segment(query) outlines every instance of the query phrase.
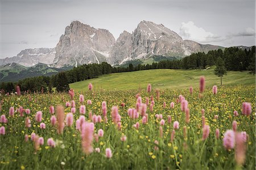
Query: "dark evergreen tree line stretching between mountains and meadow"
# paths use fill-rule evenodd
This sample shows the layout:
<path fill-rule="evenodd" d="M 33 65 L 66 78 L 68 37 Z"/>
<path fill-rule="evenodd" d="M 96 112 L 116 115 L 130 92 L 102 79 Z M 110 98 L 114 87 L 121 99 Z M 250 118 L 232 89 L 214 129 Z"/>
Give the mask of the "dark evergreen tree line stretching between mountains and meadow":
<path fill-rule="evenodd" d="M 106 62 L 81 65 L 52 76 L 36 76 L 18 82 L 2 82 L 0 89 L 11 93 L 18 85 L 23 92 L 52 92 L 53 87 L 56 87 L 56 91 L 68 91 L 70 83 L 97 78 L 104 74 L 149 69 L 206 69 L 220 62 L 224 64 L 222 67 L 228 71 L 249 70 L 250 73 L 255 74 L 255 46 L 250 50 L 235 47 L 225 50 L 210 50 L 207 54 L 204 52 L 193 53 L 182 59 L 162 60 L 147 65 L 134 66 L 130 63 L 128 67 L 112 67 Z"/>

